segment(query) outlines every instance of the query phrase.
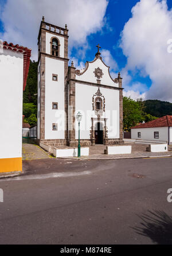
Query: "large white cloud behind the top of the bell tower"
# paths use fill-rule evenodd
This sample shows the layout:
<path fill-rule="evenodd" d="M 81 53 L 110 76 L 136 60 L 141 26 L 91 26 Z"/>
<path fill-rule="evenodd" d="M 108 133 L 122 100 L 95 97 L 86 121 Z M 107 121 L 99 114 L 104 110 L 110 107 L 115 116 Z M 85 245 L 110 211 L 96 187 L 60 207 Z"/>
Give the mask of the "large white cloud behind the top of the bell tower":
<path fill-rule="evenodd" d="M 101 30 L 107 0 L 7 0 L 1 11 L 5 33 L 0 38 L 32 48 L 37 56 L 37 37 L 42 16 L 64 28 L 68 24 L 69 47 L 87 45 L 87 36 Z"/>

